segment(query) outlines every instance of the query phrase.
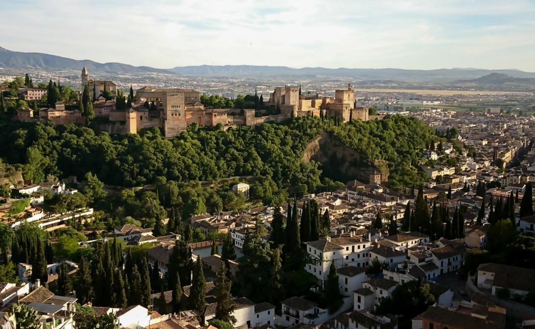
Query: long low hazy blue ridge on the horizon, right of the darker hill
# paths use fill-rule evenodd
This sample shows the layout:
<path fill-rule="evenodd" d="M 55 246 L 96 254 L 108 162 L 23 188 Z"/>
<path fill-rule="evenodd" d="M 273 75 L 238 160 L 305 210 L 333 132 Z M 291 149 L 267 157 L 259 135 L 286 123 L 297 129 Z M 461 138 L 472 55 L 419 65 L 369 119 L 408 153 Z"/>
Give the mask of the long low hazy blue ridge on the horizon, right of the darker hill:
<path fill-rule="evenodd" d="M 484 70 L 472 68 L 440 68 L 438 70 L 403 70 L 401 68 L 324 68 L 255 65 L 199 65 L 177 66 L 170 71 L 194 76 L 234 78 L 309 78 L 309 79 L 353 79 L 360 81 L 405 81 L 405 82 L 449 82 L 461 79 L 477 79 L 493 72 L 515 78 L 535 78 L 535 72 L 518 70 Z"/>

